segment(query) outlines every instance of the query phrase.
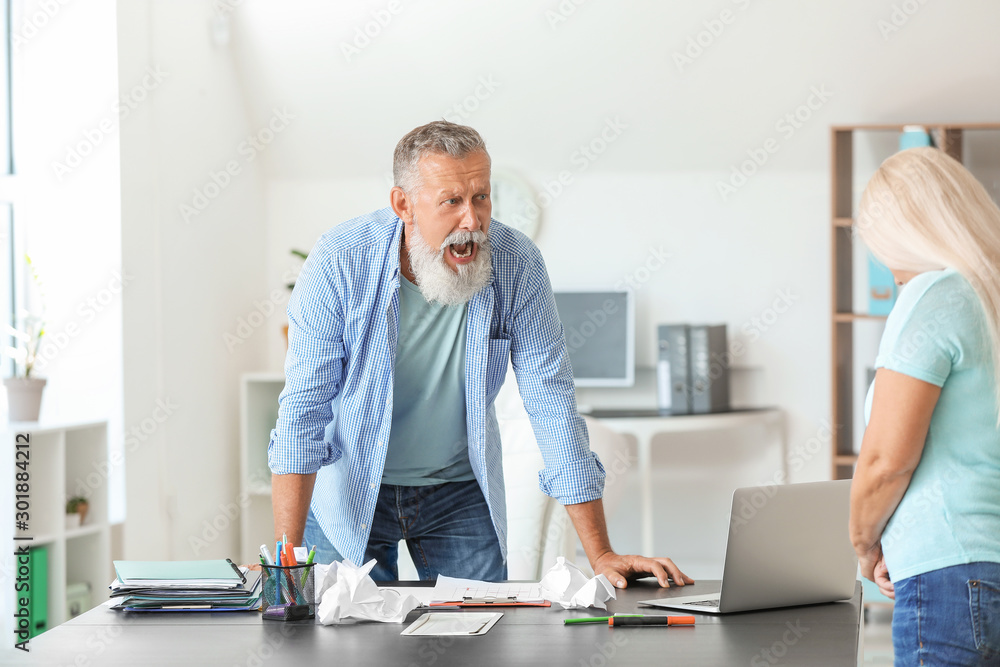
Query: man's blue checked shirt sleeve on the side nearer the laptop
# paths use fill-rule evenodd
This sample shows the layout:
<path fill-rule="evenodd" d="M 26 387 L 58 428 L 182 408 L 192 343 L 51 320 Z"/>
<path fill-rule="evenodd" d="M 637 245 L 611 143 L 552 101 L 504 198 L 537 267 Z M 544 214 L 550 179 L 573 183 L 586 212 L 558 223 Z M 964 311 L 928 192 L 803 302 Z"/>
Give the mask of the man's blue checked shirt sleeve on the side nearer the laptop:
<path fill-rule="evenodd" d="M 539 488 L 563 505 L 604 494 L 604 466 L 590 451 L 576 409 L 573 371 L 548 273 L 535 257 L 520 276 L 511 331 L 511 362 L 545 467 Z"/>

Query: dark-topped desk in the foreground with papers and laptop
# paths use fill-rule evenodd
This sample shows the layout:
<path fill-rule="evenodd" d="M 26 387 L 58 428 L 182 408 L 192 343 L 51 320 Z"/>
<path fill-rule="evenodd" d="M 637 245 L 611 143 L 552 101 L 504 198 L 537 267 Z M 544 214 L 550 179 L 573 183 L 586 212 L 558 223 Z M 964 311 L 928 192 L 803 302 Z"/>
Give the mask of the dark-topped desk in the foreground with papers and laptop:
<path fill-rule="evenodd" d="M 634 612 L 638 600 L 714 593 L 718 581 L 661 589 L 642 581 L 619 592 L 610 612 Z M 564 626 L 597 610 L 507 608 L 482 637 L 401 637 L 398 624 L 322 626 L 262 621 L 257 613 L 122 615 L 105 606 L 31 640 L 18 665 L 856 665 L 861 587 L 850 601 L 808 607 L 698 616 L 688 628 Z M 461 612 L 448 612 L 461 613 Z M 664 613 L 650 609 L 650 613 Z M 407 623 L 419 612 L 412 612 Z M 7 644 L 9 646 L 9 643 Z M 5 646 L 5 649 L 7 649 Z M 768 652 L 768 653 L 765 653 Z M 7 657 L 10 653 L 4 653 Z M 771 662 L 768 656 L 771 656 Z M 9 664 L 9 663 L 8 663 Z"/>

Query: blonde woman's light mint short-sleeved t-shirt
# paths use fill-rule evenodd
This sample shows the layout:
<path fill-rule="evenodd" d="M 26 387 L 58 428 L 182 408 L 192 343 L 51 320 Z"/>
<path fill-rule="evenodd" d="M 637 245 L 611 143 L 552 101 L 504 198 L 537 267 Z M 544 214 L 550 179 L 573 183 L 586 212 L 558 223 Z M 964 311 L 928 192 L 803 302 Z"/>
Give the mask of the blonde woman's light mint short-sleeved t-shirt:
<path fill-rule="evenodd" d="M 985 313 L 952 269 L 914 277 L 885 325 L 876 368 L 941 387 L 924 451 L 882 534 L 889 575 L 1000 562 L 1000 431 Z M 868 390 L 865 422 L 875 383 Z"/>

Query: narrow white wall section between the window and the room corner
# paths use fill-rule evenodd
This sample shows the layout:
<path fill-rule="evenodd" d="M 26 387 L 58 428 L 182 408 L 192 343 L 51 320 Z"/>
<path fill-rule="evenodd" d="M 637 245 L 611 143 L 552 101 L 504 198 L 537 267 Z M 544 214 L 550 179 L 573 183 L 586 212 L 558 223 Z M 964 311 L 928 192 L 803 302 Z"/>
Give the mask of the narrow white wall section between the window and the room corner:
<path fill-rule="evenodd" d="M 224 336 L 263 290 L 264 200 L 260 163 L 240 152 L 257 128 L 229 50 L 211 41 L 213 16 L 201 0 L 118 5 L 121 80 L 162 73 L 122 127 L 122 247 L 134 276 L 125 425 L 139 429 L 126 446 L 128 558 L 237 551 L 238 378 L 264 350 L 251 340 L 230 351 Z M 230 163 L 235 175 L 220 175 Z"/>

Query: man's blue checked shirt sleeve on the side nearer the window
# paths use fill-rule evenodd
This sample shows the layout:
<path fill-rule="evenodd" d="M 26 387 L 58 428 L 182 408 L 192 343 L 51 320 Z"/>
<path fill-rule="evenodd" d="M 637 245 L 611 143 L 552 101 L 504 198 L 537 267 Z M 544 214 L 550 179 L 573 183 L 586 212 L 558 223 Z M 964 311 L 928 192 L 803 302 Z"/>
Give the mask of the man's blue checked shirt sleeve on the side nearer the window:
<path fill-rule="evenodd" d="M 288 302 L 285 388 L 267 447 L 268 466 L 278 475 L 314 473 L 341 455 L 325 434 L 343 378 L 344 316 L 336 257 L 322 243 L 309 253 Z"/>

